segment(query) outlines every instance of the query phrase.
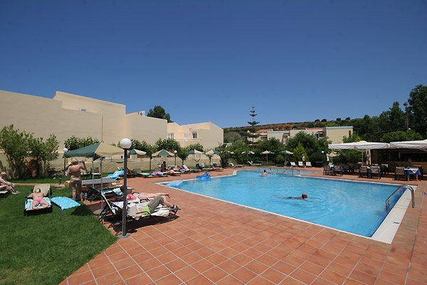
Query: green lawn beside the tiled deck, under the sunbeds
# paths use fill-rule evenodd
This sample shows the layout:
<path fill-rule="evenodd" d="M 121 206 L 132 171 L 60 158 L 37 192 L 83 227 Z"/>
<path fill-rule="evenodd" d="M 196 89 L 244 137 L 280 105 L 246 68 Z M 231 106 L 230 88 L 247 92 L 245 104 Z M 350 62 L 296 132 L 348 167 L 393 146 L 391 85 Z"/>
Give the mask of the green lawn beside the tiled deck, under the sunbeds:
<path fill-rule="evenodd" d="M 0 196 L 0 284 L 59 284 L 117 240 L 84 204 L 64 210 L 53 204 L 53 212 L 25 217 L 32 189 L 16 186 L 20 194 Z M 68 187 L 53 188 L 53 197 L 70 195 Z"/>

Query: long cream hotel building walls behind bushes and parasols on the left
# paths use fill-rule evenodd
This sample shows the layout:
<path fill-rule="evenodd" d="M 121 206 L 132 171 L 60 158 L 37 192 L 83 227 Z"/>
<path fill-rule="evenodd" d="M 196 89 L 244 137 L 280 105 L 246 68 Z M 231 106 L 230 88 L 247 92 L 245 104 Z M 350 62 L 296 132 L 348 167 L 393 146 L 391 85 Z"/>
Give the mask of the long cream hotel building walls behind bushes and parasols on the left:
<path fill-rule="evenodd" d="M 140 113 L 127 114 L 126 105 L 60 91 L 57 91 L 53 98 L 43 98 L 0 90 L 0 104 L 0 128 L 14 124 L 15 129 L 33 133 L 36 138 L 46 139 L 51 134 L 56 135 L 60 142 L 60 157 L 51 164 L 59 168 L 63 165 L 63 143 L 73 135 L 78 138 L 91 136 L 107 143 L 133 138 L 145 140 L 149 144 L 154 144 L 159 138 L 169 137 L 177 140 L 181 147 L 200 143 L 206 149 L 223 143 L 223 129 L 211 122 L 189 125 L 167 123 L 167 120 L 150 118 Z M 120 159 L 118 162 L 112 160 L 114 159 L 110 159 L 112 165 L 120 164 Z M 139 158 L 140 165 L 137 167 L 147 169 L 144 166 L 145 160 L 148 165 L 148 158 Z M 174 157 L 168 160 L 174 162 Z M 180 161 L 177 157 L 176 162 Z M 0 162 L 2 169 L 7 167 L 4 153 L 0 153 Z M 130 166 L 133 168 L 132 160 Z M 108 167 L 102 164 L 106 171 L 110 171 Z M 112 167 L 112 170 L 114 168 L 117 169 Z"/>

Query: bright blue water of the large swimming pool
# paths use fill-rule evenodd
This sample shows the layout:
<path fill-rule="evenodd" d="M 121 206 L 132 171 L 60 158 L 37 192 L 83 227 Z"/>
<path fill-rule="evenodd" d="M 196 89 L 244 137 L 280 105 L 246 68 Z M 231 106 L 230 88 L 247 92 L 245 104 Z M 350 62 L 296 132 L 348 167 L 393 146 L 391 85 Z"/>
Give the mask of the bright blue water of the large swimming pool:
<path fill-rule="evenodd" d="M 386 199 L 398 187 L 314 177 L 262 176 L 260 172 L 238 171 L 236 176 L 184 181 L 179 188 L 371 237 L 404 193 L 404 190 L 399 190 L 390 199 L 387 210 Z M 317 203 L 273 197 L 297 197 L 302 192 Z"/>

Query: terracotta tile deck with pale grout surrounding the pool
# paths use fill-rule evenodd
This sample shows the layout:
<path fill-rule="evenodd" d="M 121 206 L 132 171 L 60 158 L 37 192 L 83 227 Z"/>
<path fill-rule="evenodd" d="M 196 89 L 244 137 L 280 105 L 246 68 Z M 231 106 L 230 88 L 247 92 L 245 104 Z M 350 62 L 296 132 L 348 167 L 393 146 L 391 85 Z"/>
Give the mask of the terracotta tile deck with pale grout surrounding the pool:
<path fill-rule="evenodd" d="M 322 170 L 310 170 L 322 177 Z M 128 184 L 164 192 L 154 183 L 194 176 L 132 178 Z M 181 207 L 178 219 L 130 222 L 130 237 L 61 284 L 427 284 L 427 181 L 409 183 L 418 185 L 416 208 L 408 207 L 392 244 L 167 189 Z"/>

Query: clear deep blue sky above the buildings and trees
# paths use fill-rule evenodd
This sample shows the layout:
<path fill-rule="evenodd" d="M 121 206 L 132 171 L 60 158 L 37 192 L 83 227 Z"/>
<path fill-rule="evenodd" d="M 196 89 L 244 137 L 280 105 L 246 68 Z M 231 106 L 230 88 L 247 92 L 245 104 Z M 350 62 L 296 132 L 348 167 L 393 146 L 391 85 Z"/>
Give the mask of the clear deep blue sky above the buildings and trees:
<path fill-rule="evenodd" d="M 179 124 L 363 118 L 427 85 L 427 2 L 0 0 L 0 90 Z M 1 105 L 1 102 L 0 102 Z"/>

